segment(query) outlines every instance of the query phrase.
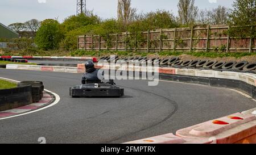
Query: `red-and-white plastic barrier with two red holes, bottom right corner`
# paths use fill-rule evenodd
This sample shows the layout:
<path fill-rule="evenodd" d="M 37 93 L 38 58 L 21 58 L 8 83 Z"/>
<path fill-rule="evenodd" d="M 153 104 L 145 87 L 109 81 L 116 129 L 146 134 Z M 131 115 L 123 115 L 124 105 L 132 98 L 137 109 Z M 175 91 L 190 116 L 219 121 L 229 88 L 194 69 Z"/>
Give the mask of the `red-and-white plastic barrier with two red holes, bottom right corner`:
<path fill-rule="evenodd" d="M 256 134 L 256 116 L 233 114 L 220 119 L 180 129 L 177 136 L 191 139 L 214 140 L 218 144 L 232 144 Z"/>

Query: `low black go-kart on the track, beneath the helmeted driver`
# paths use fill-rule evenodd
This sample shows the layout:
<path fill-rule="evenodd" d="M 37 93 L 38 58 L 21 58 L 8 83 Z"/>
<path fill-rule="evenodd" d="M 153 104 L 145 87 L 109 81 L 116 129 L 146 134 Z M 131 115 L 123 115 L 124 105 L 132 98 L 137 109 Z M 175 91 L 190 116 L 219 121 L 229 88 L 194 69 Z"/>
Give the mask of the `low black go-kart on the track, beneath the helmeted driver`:
<path fill-rule="evenodd" d="M 124 89 L 117 87 L 112 79 L 109 82 L 101 81 L 85 82 L 69 88 L 69 95 L 73 98 L 79 97 L 122 97 Z"/>

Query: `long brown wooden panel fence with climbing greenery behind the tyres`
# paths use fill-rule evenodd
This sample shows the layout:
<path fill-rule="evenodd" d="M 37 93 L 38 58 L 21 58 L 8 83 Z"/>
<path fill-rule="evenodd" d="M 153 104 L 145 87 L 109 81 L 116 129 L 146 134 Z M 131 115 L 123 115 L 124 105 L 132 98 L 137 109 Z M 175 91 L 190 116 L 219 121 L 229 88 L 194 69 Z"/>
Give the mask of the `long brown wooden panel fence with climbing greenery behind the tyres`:
<path fill-rule="evenodd" d="M 230 32 L 243 28 L 248 36 L 234 36 Z M 84 50 L 111 51 L 221 51 L 255 52 L 255 26 L 205 26 L 161 29 L 141 33 L 77 36 L 77 48 Z M 248 31 L 247 31 L 248 32 Z M 243 32 L 242 32 L 243 33 Z"/>

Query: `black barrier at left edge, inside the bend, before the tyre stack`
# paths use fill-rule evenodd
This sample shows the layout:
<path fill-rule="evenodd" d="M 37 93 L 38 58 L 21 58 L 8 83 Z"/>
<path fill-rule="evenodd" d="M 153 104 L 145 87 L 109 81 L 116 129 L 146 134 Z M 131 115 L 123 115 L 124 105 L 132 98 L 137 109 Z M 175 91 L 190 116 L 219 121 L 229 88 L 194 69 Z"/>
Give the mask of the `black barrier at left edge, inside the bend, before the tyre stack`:
<path fill-rule="evenodd" d="M 32 101 L 31 85 L 0 90 L 0 111 L 26 106 Z"/>

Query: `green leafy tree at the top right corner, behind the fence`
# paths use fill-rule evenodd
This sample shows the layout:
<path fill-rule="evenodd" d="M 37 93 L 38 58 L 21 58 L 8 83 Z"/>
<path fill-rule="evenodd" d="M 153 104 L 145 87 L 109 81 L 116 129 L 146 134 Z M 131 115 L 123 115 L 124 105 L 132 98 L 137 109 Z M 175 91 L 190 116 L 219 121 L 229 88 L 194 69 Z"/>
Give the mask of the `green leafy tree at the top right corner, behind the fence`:
<path fill-rule="evenodd" d="M 236 0 L 230 15 L 233 24 L 253 25 L 256 23 L 256 0 Z"/>

